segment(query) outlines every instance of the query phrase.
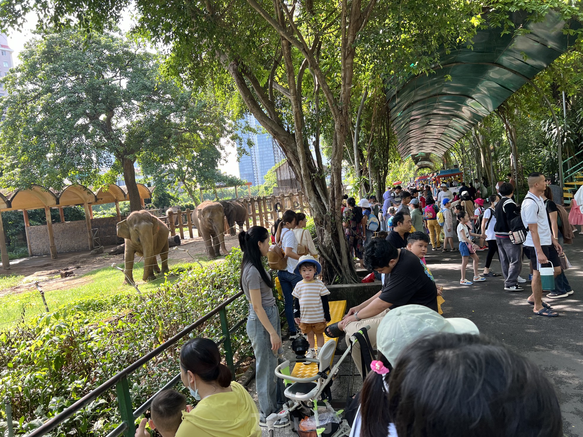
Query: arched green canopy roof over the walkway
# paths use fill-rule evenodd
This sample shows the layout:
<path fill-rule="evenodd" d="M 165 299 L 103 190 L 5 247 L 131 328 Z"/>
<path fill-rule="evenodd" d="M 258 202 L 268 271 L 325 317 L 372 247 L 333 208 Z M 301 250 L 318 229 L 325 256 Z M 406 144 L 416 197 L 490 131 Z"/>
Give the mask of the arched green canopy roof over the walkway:
<path fill-rule="evenodd" d="M 479 29 L 473 50 L 459 48 L 440 55 L 430 75 L 411 76 L 398 86 L 387 83 L 391 121 L 402 157 L 426 166 L 429 154 L 443 156 L 479 121 L 573 45 L 575 20 L 550 11 L 540 22 L 528 13 L 511 14 L 515 26 L 530 33 L 501 35 L 501 29 Z M 451 76 L 451 79 L 449 77 Z"/>

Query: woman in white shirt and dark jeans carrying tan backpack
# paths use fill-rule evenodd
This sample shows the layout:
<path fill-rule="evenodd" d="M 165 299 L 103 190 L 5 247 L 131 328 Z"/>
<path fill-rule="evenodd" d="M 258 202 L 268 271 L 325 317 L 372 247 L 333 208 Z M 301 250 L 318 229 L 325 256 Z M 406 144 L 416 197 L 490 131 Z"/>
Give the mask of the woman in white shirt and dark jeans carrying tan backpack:
<path fill-rule="evenodd" d="M 297 260 L 300 256 L 297 254 L 297 240 L 293 229 L 297 224 L 296 212 L 288 209 L 282 215 L 282 220 L 279 222 L 277 231 L 275 232 L 275 242 L 280 245 L 285 252 L 287 259 L 287 269 L 278 270 L 279 284 L 282 286 L 283 301 L 285 303 L 285 313 L 287 326 L 290 330 L 290 340 L 295 340 L 298 336 L 296 329 L 296 322 L 293 316 L 293 297 L 291 293 L 296 287 L 296 284 L 303 278 L 294 273 L 297 266 Z"/>

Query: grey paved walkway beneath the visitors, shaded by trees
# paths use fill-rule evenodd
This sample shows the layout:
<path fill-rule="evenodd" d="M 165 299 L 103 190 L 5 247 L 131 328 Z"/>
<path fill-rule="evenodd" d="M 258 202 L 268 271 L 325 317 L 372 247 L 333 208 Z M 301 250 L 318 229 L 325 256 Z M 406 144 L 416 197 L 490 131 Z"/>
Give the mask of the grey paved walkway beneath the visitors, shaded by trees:
<path fill-rule="evenodd" d="M 574 266 L 566 274 L 575 292 L 568 298 L 547 299 L 559 312 L 557 318 L 533 315 L 532 306 L 526 303 L 531 294 L 529 282 L 521 284 L 524 291 L 513 293 L 504 291 L 501 277 L 488 278 L 473 286 L 459 286 L 459 252 L 430 251 L 426 259 L 436 282 L 445 288 L 445 303 L 441 306 L 444 316 L 473 320 L 480 332 L 503 341 L 538 363 L 553 380 L 559 395 L 564 434 L 583 437 L 583 236 L 578 235 L 575 244 L 567 245 L 565 252 Z M 486 251 L 478 253 L 481 273 Z M 497 256 L 491 269 L 501 273 Z M 466 272 L 467 277 L 472 277 L 470 267 Z M 528 273 L 529 267 L 524 263 L 521 276 L 528 278 Z M 343 341 L 340 344 L 344 347 Z M 289 345 L 286 341 L 286 355 L 291 354 Z M 346 366 L 342 373 L 348 372 Z M 356 389 L 360 382 L 358 378 L 355 381 Z M 346 378 L 335 381 L 334 398 L 346 396 L 345 384 Z M 278 429 L 276 435 L 294 434 L 285 428 Z"/>

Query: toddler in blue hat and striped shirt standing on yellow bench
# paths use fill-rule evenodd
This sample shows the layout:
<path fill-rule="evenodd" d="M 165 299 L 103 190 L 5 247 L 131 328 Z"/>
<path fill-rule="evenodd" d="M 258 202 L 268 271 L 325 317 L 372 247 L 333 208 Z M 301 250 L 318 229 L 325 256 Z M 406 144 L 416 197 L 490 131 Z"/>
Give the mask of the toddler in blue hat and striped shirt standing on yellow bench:
<path fill-rule="evenodd" d="M 294 273 L 301 274 L 303 280 L 296 284 L 291 295 L 294 297 L 294 318 L 304 334 L 310 350 L 306 358 L 318 357 L 315 351 L 314 334 L 318 349 L 324 346 L 324 330 L 326 322 L 330 321 L 330 307 L 328 305 L 328 288 L 314 276 L 320 274 L 322 266 L 311 255 L 300 256 Z M 310 364 L 310 361 L 304 362 Z"/>

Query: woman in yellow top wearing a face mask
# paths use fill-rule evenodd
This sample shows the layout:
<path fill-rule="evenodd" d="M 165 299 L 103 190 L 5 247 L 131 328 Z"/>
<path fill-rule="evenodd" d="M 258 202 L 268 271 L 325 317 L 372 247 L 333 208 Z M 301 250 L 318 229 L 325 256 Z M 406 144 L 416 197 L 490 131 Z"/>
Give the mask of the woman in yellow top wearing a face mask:
<path fill-rule="evenodd" d="M 232 377 L 214 341 L 197 338 L 182 346 L 180 379 L 198 404 L 182 411 L 175 437 L 261 436 L 255 402 Z"/>

